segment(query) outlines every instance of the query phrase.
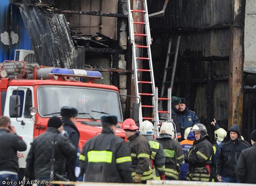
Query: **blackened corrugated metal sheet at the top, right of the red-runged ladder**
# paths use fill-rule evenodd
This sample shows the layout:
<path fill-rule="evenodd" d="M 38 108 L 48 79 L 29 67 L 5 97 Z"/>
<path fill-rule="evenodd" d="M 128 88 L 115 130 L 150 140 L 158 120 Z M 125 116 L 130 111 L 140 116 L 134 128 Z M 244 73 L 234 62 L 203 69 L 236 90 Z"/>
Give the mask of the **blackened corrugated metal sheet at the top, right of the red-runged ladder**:
<path fill-rule="evenodd" d="M 149 13 L 158 12 L 164 0 L 148 0 Z M 220 26 L 229 23 L 230 0 L 171 0 L 167 4 L 165 14 L 159 18 L 151 18 L 152 30 L 177 30 Z"/>

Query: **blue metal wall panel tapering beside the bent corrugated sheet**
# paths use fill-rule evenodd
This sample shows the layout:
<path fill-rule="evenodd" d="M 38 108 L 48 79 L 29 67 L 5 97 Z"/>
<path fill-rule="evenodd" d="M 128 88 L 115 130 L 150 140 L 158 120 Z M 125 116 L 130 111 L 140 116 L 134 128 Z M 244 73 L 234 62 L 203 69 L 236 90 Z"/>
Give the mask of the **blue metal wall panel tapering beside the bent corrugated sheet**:
<path fill-rule="evenodd" d="M 10 46 L 10 60 L 14 60 L 15 49 L 33 50 L 27 29 L 22 20 L 19 7 L 11 5 L 11 32 L 18 35 L 18 42 L 14 41 Z M 14 37 L 13 37 L 14 38 Z"/>

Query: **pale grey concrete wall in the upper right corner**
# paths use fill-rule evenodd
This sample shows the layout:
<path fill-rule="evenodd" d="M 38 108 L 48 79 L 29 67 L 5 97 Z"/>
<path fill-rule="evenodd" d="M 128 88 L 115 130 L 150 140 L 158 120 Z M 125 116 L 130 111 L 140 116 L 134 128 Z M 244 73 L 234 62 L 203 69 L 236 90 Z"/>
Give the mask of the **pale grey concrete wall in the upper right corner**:
<path fill-rule="evenodd" d="M 256 65 L 256 1 L 247 0 L 244 29 L 244 65 Z"/>

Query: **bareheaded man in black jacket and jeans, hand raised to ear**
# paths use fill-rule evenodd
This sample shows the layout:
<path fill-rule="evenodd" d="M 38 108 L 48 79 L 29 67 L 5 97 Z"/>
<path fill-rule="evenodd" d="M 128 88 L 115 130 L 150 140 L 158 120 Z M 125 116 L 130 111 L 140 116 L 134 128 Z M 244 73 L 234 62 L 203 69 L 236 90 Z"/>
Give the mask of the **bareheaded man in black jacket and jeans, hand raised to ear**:
<path fill-rule="evenodd" d="M 18 181 L 17 151 L 25 151 L 27 145 L 6 116 L 0 117 L 0 149 L 0 185 L 2 181 Z"/>

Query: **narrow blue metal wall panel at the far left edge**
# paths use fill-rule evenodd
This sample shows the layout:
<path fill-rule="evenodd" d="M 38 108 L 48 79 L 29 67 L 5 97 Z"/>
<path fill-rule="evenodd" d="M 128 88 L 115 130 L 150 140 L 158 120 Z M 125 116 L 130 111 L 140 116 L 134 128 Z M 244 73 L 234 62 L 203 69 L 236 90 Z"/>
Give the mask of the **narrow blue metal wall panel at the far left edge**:
<path fill-rule="evenodd" d="M 1 0 L 0 1 L 0 62 L 4 60 L 8 60 L 9 54 L 9 42 L 10 37 L 9 34 L 9 18 L 8 18 L 8 11 L 9 11 L 9 0 Z"/>

